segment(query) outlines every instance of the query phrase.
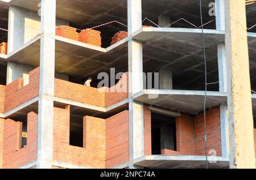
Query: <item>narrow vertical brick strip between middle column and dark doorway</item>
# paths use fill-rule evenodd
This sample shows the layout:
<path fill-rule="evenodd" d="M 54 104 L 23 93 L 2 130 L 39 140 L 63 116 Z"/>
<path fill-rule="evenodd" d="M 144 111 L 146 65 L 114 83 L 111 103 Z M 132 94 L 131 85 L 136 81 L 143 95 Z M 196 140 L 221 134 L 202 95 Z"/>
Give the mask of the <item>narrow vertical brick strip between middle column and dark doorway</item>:
<path fill-rule="evenodd" d="M 151 155 L 151 110 L 144 105 L 144 154 Z"/>

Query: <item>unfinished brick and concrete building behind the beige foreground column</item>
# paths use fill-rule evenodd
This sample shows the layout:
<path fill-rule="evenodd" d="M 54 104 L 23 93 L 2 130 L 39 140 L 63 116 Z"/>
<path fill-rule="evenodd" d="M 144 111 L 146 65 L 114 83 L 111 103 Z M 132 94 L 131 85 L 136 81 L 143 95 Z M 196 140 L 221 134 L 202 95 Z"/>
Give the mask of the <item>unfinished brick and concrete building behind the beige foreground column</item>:
<path fill-rule="evenodd" d="M 224 6 L 0 0 L 0 168 L 229 168 Z"/>

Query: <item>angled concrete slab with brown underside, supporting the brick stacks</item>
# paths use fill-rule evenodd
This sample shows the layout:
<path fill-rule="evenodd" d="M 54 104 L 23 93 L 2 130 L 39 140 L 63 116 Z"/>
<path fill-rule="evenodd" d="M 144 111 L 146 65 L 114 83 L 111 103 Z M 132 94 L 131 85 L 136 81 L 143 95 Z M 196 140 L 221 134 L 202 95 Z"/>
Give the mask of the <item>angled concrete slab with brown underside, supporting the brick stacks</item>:
<path fill-rule="evenodd" d="M 40 37 L 34 38 L 19 50 L 9 54 L 6 60 L 38 67 L 40 65 Z M 115 67 L 119 72 L 125 72 L 128 69 L 127 41 L 129 38 L 107 49 L 59 36 L 55 39 L 56 72 L 82 79 L 86 76 L 97 77 L 98 73 L 109 71 L 111 67 Z"/>

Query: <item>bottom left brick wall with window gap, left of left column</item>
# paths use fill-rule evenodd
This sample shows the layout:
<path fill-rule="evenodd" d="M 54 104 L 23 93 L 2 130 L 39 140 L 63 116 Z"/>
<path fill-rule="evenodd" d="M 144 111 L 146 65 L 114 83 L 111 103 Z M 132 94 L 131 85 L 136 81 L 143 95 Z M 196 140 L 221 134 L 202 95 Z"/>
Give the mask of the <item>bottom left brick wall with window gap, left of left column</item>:
<path fill-rule="evenodd" d="M 38 139 L 38 115 L 31 112 L 27 116 L 27 146 L 21 148 L 22 123 L 11 119 L 0 119 L 3 131 L 3 168 L 19 168 L 36 161 Z M 1 124 L 1 123 L 0 123 Z"/>

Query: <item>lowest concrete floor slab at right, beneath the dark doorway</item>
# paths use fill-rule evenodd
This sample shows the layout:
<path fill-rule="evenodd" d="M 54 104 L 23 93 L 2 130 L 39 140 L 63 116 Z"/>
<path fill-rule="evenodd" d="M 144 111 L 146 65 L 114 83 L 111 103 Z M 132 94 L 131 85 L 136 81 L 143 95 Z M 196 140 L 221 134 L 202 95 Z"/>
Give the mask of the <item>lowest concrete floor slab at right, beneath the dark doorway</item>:
<path fill-rule="evenodd" d="M 214 157 L 217 163 L 208 163 L 210 169 L 228 169 L 229 159 Z M 135 160 L 135 165 L 155 169 L 205 169 L 204 156 L 145 156 Z"/>

